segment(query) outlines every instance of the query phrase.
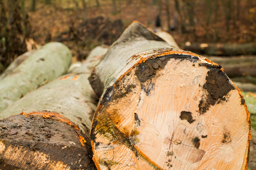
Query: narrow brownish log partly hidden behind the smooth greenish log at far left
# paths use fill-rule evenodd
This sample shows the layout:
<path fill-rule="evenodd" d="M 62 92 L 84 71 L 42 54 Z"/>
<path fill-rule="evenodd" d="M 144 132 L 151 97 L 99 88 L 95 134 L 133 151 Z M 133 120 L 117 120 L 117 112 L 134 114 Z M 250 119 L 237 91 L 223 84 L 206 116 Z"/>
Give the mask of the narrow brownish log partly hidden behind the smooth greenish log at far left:
<path fill-rule="evenodd" d="M 18 65 L 20 65 L 24 60 L 26 60 L 34 52 L 35 50 L 31 50 L 15 58 L 15 60 L 0 75 L 0 80 L 3 77 L 5 77 L 8 73 L 10 73 L 13 69 L 15 69 Z"/>

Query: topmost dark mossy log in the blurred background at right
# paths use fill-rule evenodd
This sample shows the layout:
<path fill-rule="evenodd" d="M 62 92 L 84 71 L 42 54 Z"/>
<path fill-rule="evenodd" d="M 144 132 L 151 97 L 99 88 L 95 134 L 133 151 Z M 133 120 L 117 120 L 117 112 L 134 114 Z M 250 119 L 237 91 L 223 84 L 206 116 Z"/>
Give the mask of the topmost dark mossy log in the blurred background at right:
<path fill-rule="evenodd" d="M 214 44 L 214 43 L 193 43 L 185 45 L 184 50 L 192 51 L 193 53 L 207 55 L 255 55 L 256 43 L 244 44 Z"/>

